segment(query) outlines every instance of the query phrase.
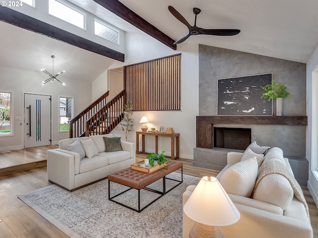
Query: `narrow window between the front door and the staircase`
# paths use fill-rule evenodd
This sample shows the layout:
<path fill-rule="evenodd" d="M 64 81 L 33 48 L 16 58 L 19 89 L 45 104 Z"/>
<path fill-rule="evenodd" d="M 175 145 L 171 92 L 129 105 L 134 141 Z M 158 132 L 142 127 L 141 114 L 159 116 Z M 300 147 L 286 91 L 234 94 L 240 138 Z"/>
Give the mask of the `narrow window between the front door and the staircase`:
<path fill-rule="evenodd" d="M 59 131 L 70 130 L 70 120 L 73 118 L 73 97 L 59 97 Z"/>

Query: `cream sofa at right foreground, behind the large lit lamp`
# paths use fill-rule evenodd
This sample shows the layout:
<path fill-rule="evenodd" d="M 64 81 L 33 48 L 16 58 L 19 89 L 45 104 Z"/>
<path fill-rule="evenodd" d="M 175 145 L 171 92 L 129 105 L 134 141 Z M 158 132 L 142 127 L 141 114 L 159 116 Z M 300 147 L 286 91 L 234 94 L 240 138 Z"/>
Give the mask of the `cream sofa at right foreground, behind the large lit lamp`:
<path fill-rule="evenodd" d="M 227 166 L 217 176 L 220 182 L 224 172 L 239 163 L 242 156 L 243 153 L 228 153 Z M 287 170 L 293 175 L 288 159 L 283 158 L 281 149 L 271 148 L 263 160 L 270 159 L 285 161 Z M 234 185 L 239 186 L 239 184 Z M 194 189 L 195 185 L 187 187 L 183 193 L 183 205 Z M 229 192 L 228 194 L 239 210 L 240 219 L 234 225 L 221 227 L 225 237 L 313 238 L 313 230 L 305 206 L 294 196 L 291 183 L 284 176 L 269 174 L 263 177 L 254 190 L 253 199 Z M 183 211 L 183 238 L 189 237 L 193 225 L 194 221 Z"/>

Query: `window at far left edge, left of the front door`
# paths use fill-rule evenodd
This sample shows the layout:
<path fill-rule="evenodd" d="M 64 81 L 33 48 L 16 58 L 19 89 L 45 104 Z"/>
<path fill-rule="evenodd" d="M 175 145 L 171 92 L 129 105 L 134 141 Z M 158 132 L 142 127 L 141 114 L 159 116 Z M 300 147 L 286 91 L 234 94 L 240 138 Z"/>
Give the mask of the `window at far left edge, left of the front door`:
<path fill-rule="evenodd" d="M 11 118 L 11 92 L 0 91 L 0 136 L 12 135 L 13 119 Z"/>

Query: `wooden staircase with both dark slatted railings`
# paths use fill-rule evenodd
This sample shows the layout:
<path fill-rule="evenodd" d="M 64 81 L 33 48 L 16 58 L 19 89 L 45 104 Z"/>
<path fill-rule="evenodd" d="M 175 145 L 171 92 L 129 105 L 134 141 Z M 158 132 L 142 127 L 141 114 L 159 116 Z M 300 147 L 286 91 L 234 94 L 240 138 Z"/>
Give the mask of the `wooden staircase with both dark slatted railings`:
<path fill-rule="evenodd" d="M 125 90 L 107 102 L 109 91 L 99 97 L 70 121 L 70 138 L 108 134 L 123 119 Z"/>

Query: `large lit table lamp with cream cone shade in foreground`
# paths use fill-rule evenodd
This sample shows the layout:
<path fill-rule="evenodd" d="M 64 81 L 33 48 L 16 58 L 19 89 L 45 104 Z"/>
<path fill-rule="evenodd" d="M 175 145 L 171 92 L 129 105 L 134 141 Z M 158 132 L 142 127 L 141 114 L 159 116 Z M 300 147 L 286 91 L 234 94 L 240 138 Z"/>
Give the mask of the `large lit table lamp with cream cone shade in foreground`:
<path fill-rule="evenodd" d="M 219 226 L 239 221 L 239 210 L 214 177 L 203 177 L 184 204 L 184 213 L 196 221 L 190 238 L 224 238 Z"/>

